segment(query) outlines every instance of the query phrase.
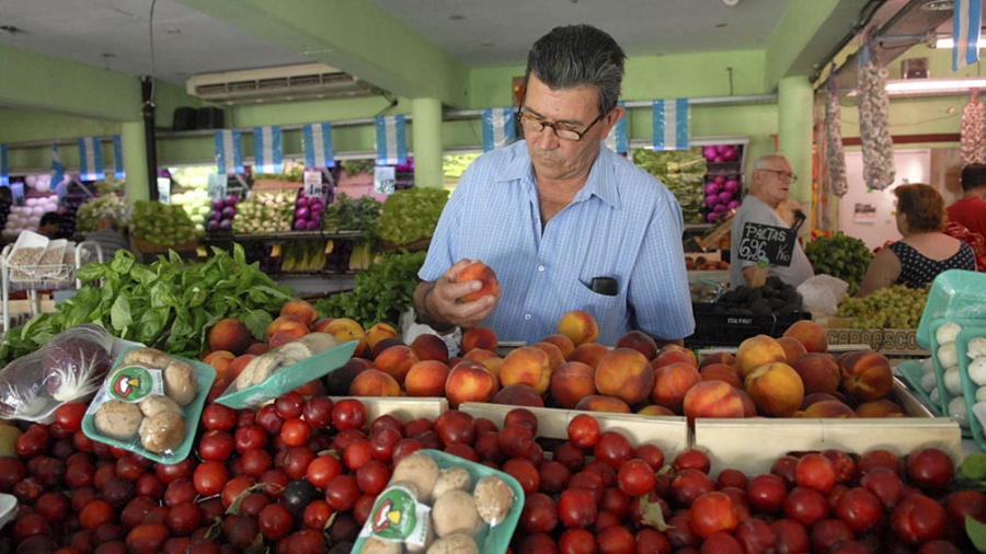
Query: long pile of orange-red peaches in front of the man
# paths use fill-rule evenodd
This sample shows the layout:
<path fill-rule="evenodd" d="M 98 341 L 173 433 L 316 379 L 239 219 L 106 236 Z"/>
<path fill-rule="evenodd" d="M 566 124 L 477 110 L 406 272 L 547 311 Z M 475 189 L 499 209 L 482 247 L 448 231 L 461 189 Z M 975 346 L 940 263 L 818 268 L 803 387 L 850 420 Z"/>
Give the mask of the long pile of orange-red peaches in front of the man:
<path fill-rule="evenodd" d="M 445 341 L 420 335 L 404 344 L 395 330 L 377 323 L 367 330 L 345 318 L 318 319 L 303 300 L 287 302 L 266 330 L 266 342 L 250 336 L 237 320 L 208 332 L 204 361 L 216 367 L 219 393 L 253 356 L 308 333 L 358 341 L 353 358 L 314 381 L 308 393 L 354 396 L 437 396 L 449 404 L 493 402 L 592 412 L 685 415 L 688 417 L 883 417 L 903 409 L 888 399 L 893 376 L 886 358 L 873 351 L 835 357 L 824 327 L 800 321 L 784 336 L 758 335 L 734 354 L 695 353 L 631 331 L 611 348 L 596 342 L 598 326 L 588 312 L 574 310 L 558 332 L 506 354 L 495 333 L 466 331 L 456 357 Z"/>

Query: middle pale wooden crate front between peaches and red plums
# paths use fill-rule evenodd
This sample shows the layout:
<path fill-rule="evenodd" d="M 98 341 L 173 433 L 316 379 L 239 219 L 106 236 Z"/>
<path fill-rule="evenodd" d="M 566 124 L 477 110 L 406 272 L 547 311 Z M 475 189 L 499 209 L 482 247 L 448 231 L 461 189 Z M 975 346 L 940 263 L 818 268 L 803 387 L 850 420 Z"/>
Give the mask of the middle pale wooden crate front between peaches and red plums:
<path fill-rule="evenodd" d="M 473 417 L 485 417 L 497 426 L 503 426 L 507 412 L 517 406 L 465 402 L 459 409 Z M 551 439 L 566 439 L 569 422 L 578 414 L 589 414 L 599 422 L 604 431 L 619 431 L 633 446 L 645 442 L 661 447 L 669 460 L 688 447 L 688 424 L 684 417 L 649 416 L 639 414 L 608 414 L 548 407 L 528 407 L 538 417 L 538 436 Z"/>

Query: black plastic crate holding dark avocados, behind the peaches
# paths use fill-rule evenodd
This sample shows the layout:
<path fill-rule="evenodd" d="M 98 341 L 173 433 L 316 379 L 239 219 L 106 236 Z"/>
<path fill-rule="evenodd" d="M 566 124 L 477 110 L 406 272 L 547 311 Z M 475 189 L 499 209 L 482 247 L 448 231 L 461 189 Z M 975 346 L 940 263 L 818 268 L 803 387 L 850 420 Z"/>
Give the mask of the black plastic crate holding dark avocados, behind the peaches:
<path fill-rule="evenodd" d="M 695 333 L 685 338 L 689 348 L 710 346 L 740 346 L 740 343 L 756 335 L 778 338 L 794 323 L 811 320 L 809 311 L 781 315 L 732 315 L 713 313 L 714 304 L 693 303 Z"/>

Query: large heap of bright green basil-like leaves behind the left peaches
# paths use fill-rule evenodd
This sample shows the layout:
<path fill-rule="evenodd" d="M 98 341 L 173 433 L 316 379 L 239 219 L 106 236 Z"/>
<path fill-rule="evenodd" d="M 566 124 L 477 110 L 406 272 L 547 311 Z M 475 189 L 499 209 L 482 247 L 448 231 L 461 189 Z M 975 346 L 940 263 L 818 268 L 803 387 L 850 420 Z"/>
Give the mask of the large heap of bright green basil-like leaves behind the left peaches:
<path fill-rule="evenodd" d="M 175 252 L 145 265 L 128 251 L 76 272 L 84 282 L 54 313 L 41 313 L 10 330 L 0 347 L 3 362 L 30 354 L 56 334 L 95 323 L 116 337 L 144 343 L 177 356 L 197 357 L 206 333 L 223 318 L 237 318 L 261 339 L 291 289 L 274 282 L 257 264 L 246 264 L 243 247 L 213 247 L 205 264 L 185 262 Z"/>

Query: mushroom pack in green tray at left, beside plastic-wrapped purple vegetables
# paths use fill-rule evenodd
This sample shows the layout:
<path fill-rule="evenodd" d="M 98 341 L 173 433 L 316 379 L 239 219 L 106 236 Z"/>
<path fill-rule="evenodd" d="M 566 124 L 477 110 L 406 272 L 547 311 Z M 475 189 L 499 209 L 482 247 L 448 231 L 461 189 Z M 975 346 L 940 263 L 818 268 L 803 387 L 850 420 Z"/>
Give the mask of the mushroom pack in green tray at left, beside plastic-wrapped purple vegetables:
<path fill-rule="evenodd" d="M 130 348 L 85 411 L 82 431 L 150 460 L 177 463 L 192 449 L 215 378 L 205 363 L 157 348 Z"/>

